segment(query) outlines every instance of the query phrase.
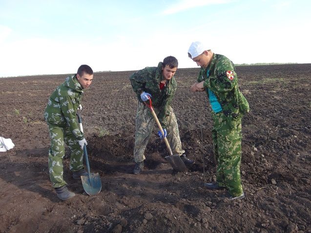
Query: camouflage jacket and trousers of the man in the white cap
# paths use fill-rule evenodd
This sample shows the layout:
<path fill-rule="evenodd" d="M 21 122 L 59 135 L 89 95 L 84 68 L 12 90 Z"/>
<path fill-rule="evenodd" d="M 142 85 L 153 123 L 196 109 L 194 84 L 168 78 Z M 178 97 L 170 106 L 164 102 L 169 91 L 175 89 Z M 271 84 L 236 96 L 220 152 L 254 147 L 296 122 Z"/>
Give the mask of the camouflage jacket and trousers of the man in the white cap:
<path fill-rule="evenodd" d="M 239 91 L 233 62 L 223 55 L 213 55 L 208 67 L 201 68 L 198 81 L 204 81 L 207 96 L 209 88 L 223 109 L 219 113 L 211 111 L 214 155 L 218 162 L 216 180 L 220 186 L 228 188 L 230 195 L 239 196 L 243 192 L 240 175 L 241 122 L 243 115 L 249 112 L 249 103 Z"/>

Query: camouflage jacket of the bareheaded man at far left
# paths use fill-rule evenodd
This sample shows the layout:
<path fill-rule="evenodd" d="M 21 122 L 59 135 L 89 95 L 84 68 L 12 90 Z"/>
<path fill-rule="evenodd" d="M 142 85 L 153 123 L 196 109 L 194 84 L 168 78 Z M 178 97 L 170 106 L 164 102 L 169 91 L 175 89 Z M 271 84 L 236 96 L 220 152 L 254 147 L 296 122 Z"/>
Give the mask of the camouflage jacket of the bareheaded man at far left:
<path fill-rule="evenodd" d="M 83 87 L 77 75 L 69 76 L 59 85 L 49 98 L 44 111 L 47 123 L 69 127 L 70 132 L 78 139 L 83 139 L 79 129 L 76 112 L 83 96 Z"/>

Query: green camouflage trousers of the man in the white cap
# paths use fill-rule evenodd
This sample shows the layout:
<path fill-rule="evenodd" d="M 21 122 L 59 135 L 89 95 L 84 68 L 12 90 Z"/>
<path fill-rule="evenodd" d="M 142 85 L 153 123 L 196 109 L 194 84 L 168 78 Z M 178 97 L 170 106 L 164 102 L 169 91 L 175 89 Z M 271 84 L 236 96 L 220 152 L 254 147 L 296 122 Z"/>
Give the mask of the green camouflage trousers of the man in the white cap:
<path fill-rule="evenodd" d="M 226 186 L 232 196 L 241 195 L 241 118 L 229 124 L 223 112 L 211 113 L 214 121 L 212 139 L 214 155 L 217 159 L 216 180 L 220 186 Z M 233 128 L 232 125 L 234 125 Z"/>

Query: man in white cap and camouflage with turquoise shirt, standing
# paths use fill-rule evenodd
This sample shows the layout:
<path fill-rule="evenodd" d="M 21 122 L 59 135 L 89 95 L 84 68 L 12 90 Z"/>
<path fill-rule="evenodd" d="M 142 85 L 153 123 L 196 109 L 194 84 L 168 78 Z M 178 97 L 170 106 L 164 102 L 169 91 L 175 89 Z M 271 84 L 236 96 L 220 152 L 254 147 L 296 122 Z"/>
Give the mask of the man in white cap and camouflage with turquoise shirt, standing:
<path fill-rule="evenodd" d="M 191 91 L 206 91 L 213 119 L 212 138 L 218 161 L 216 183 L 209 189 L 228 189 L 230 199 L 245 196 L 241 185 L 241 119 L 249 112 L 249 103 L 239 91 L 234 64 L 223 55 L 207 50 L 201 42 L 193 42 L 188 57 L 201 66 Z"/>

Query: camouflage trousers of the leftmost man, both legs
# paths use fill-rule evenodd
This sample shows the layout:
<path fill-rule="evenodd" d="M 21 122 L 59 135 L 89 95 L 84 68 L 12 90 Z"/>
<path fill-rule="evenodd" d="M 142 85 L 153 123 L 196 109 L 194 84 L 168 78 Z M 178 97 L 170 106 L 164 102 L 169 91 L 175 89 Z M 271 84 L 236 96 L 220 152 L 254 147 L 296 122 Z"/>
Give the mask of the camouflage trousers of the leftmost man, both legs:
<path fill-rule="evenodd" d="M 58 188 L 67 184 L 63 179 L 62 168 L 62 158 L 65 155 L 64 142 L 71 151 L 70 170 L 72 172 L 83 169 L 83 150 L 81 150 L 78 140 L 73 136 L 69 127 L 62 128 L 48 123 L 48 128 L 51 138 L 48 158 L 49 174 L 53 187 Z"/>

